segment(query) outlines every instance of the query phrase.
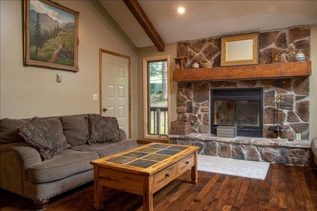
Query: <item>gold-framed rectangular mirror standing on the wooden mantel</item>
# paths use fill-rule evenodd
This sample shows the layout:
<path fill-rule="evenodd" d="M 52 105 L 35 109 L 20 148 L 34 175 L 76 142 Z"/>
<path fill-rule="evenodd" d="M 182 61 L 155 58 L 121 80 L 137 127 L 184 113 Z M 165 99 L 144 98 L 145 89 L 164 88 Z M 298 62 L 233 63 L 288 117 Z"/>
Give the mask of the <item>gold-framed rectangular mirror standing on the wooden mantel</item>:
<path fill-rule="evenodd" d="M 259 64 L 259 32 L 221 37 L 223 66 Z"/>

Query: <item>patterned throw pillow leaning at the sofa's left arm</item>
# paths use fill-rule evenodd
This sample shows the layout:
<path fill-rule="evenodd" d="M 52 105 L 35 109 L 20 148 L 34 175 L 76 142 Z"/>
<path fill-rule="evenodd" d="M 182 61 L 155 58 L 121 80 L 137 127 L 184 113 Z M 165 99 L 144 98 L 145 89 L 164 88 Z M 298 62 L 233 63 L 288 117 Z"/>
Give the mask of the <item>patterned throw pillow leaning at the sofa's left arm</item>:
<path fill-rule="evenodd" d="M 49 160 L 57 153 L 57 143 L 53 140 L 46 125 L 39 117 L 34 117 L 32 120 L 25 122 L 21 127 L 18 127 L 18 132 L 27 143 L 35 147 L 39 151 L 39 155 L 43 160 Z"/>

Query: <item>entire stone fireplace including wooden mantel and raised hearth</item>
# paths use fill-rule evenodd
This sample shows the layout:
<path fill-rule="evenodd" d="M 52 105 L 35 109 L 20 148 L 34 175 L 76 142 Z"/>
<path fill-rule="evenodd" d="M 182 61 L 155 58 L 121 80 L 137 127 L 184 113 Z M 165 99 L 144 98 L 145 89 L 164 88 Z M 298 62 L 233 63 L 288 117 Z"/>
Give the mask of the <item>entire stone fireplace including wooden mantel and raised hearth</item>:
<path fill-rule="evenodd" d="M 202 155 L 314 166 L 310 141 L 307 140 L 309 139 L 308 76 L 310 74 L 306 72 L 297 74 L 299 70 L 306 71 L 306 66 L 302 65 L 302 67 L 305 66 L 303 70 L 298 68 L 299 65 L 293 65 L 299 49 L 304 52 L 306 60 L 309 60 L 310 27 L 259 32 L 259 35 L 259 65 L 254 65 L 251 70 L 257 70 L 256 67 L 261 66 L 261 71 L 263 70 L 267 75 L 267 72 L 279 72 L 280 63 L 286 64 L 283 66 L 289 68 L 280 72 L 278 77 L 249 78 L 247 76 L 251 74 L 247 66 L 226 69 L 219 67 L 220 37 L 178 42 L 178 57 L 187 58 L 185 69 L 190 68 L 194 61 L 206 62 L 207 60 L 213 60 L 213 68 L 173 72 L 174 80 L 178 82 L 176 94 L 178 120 L 190 122 L 192 134 L 169 135 L 169 141 L 175 144 L 199 146 L 198 153 Z M 280 55 L 280 63 L 271 64 L 272 57 L 276 54 Z M 306 64 L 310 65 L 309 62 Z M 236 70 L 239 73 L 232 73 Z M 247 75 L 244 75 L 245 70 L 249 71 Z M 288 75 L 289 70 L 292 71 L 290 75 Z M 262 75 L 261 71 L 258 71 L 259 75 Z M 175 72 L 178 74 L 174 74 Z M 256 102 L 243 98 L 236 106 L 236 103 L 228 101 L 228 98 L 232 99 L 232 96 L 228 96 L 227 99 L 222 98 L 216 103 L 211 98 L 217 91 L 228 91 L 230 94 L 234 90 L 247 89 L 261 90 L 260 96 L 254 96 L 254 98 L 260 97 L 261 100 Z M 281 115 L 285 131 L 282 131 L 280 136 L 286 141 L 273 141 L 277 134 L 269 129 L 276 123 L 274 122 L 276 94 L 280 94 L 285 102 Z M 214 111 L 213 107 L 219 109 Z M 250 115 L 245 112 L 246 110 L 253 111 Z M 253 125 L 258 129 L 257 132 L 249 134 L 249 137 L 242 132 L 235 138 L 215 135 L 217 125 L 240 125 L 241 120 L 244 121 L 242 127 Z M 301 134 L 302 140 L 292 141 L 296 139 L 297 134 Z"/>

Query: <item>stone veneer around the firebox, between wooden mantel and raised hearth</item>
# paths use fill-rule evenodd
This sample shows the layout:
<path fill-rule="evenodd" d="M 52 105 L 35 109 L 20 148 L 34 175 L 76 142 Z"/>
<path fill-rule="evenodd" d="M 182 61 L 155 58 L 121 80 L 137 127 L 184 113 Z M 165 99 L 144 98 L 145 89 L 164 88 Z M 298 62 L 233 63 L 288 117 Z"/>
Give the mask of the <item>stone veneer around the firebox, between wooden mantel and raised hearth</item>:
<path fill-rule="evenodd" d="M 282 120 L 286 129 L 280 136 L 295 139 L 296 134 L 302 134 L 302 139 L 309 139 L 309 79 L 273 79 L 252 81 L 254 87 L 263 88 L 263 137 L 276 138 L 276 134 L 268 130 L 274 124 L 274 96 L 282 94 L 285 99 Z M 210 133 L 210 89 L 228 88 L 227 82 L 182 82 L 178 88 L 178 120 L 190 121 L 193 132 Z M 297 86 L 306 87 L 306 91 L 296 94 Z M 249 88 L 244 81 L 230 82 L 230 88 Z M 298 93 L 298 92 L 297 92 Z M 187 96 L 194 96 L 187 98 Z M 196 97 L 195 97 L 196 96 Z M 276 122 L 275 122 L 276 123 Z"/>

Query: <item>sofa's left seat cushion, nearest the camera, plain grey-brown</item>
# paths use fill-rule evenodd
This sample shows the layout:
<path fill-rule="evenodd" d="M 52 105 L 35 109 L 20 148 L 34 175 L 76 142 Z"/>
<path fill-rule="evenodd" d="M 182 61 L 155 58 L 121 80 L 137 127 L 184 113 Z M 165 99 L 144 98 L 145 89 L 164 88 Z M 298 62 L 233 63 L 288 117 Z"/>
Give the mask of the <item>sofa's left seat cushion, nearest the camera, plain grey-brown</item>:
<path fill-rule="evenodd" d="M 33 183 L 45 183 L 86 172 L 92 170 L 90 161 L 98 158 L 97 153 L 66 149 L 58 152 L 50 160 L 31 165 L 28 169 L 28 180 Z"/>

